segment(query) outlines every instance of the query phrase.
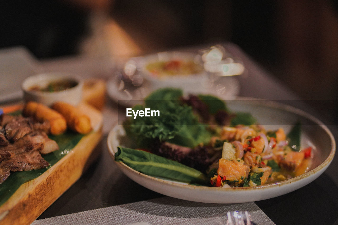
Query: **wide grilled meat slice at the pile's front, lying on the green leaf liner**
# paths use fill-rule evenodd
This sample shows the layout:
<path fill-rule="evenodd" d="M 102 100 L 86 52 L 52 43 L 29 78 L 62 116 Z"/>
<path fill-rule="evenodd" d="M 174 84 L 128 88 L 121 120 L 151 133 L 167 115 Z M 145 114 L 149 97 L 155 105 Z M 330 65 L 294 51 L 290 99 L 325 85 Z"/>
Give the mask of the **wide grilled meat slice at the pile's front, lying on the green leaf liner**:
<path fill-rule="evenodd" d="M 23 152 L 15 155 L 8 160 L 2 161 L 0 168 L 10 171 L 28 171 L 46 168 L 49 163 L 42 158 L 39 151 Z"/>

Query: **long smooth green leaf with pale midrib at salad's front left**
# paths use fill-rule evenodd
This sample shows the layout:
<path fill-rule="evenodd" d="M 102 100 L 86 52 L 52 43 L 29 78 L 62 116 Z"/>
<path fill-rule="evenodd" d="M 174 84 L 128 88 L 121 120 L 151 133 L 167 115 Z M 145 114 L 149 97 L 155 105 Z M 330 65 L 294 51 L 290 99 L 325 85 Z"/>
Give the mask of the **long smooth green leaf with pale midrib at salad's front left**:
<path fill-rule="evenodd" d="M 130 148 L 118 147 L 115 160 L 149 176 L 188 182 L 206 183 L 207 177 L 191 167 L 164 157 Z"/>

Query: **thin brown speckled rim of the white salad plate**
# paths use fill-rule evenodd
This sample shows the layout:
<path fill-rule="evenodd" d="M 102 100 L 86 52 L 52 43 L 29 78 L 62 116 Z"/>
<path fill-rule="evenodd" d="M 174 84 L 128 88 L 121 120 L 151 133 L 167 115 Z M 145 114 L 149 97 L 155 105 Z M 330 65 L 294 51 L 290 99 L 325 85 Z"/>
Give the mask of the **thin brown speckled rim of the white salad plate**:
<path fill-rule="evenodd" d="M 237 188 L 215 188 L 215 187 L 196 186 L 196 185 L 177 183 L 175 181 L 169 181 L 169 180 L 164 180 L 164 179 L 152 177 L 152 176 L 149 176 L 149 175 L 145 175 L 145 174 L 140 173 L 140 172 L 138 172 L 134 169 L 131 169 L 130 167 L 128 167 L 127 165 L 125 165 L 122 162 L 117 162 L 117 161 L 115 161 L 115 162 L 118 163 L 119 166 L 125 167 L 126 169 L 132 171 L 133 173 L 140 175 L 141 177 L 143 177 L 147 180 L 152 180 L 152 181 L 155 181 L 155 182 L 174 185 L 174 186 L 177 186 L 177 187 L 180 187 L 180 188 L 198 189 L 198 190 L 206 190 L 206 191 L 212 190 L 212 191 L 215 191 L 215 192 L 216 191 L 221 191 L 221 192 L 234 192 L 235 191 L 235 192 L 238 192 L 238 191 L 248 191 L 248 190 L 264 190 L 264 189 L 271 189 L 271 188 L 275 188 L 275 187 L 281 187 L 281 186 L 284 186 L 284 185 L 288 185 L 290 183 L 295 183 L 295 182 L 300 181 L 304 178 L 314 176 L 317 173 L 320 173 L 320 172 L 322 173 L 322 172 L 324 172 L 323 169 L 326 169 L 330 165 L 330 163 L 333 160 L 333 157 L 335 155 L 336 142 L 335 142 L 334 136 L 331 133 L 331 131 L 329 130 L 329 128 L 326 125 L 324 125 L 320 120 L 318 120 L 314 116 L 306 113 L 303 110 L 297 109 L 295 107 L 292 107 L 292 106 L 289 106 L 289 105 L 286 105 L 286 104 L 283 104 L 283 103 L 278 103 L 278 102 L 263 100 L 263 99 L 257 99 L 257 98 L 246 98 L 246 97 L 237 97 L 235 100 L 255 100 L 255 104 L 252 104 L 252 103 L 250 103 L 250 104 L 255 105 L 255 106 L 262 105 L 262 106 L 265 106 L 265 107 L 272 107 L 272 108 L 275 108 L 275 109 L 288 111 L 290 113 L 296 114 L 298 116 L 304 117 L 304 118 L 314 122 L 316 125 L 320 126 L 323 129 L 323 131 L 329 136 L 329 138 L 331 140 L 331 151 L 330 151 L 329 156 L 316 168 L 314 168 L 314 169 L 310 170 L 309 172 L 306 172 L 302 175 L 299 175 L 297 177 L 293 177 L 293 178 L 290 178 L 288 180 L 284 180 L 284 181 L 280 181 L 280 182 L 276 182 L 276 183 L 255 186 L 255 187 L 237 187 Z M 262 101 L 264 101 L 264 102 L 262 102 Z M 110 152 L 113 159 L 115 159 L 114 154 L 115 154 L 116 150 L 115 151 L 113 150 L 111 140 L 114 137 L 114 134 L 115 134 L 114 129 L 115 129 L 116 126 L 119 126 L 119 125 L 116 124 L 115 126 L 113 126 L 113 128 L 109 132 L 108 138 L 107 138 L 108 149 L 109 149 L 109 152 Z M 301 186 L 299 186 L 299 188 L 300 187 Z"/>

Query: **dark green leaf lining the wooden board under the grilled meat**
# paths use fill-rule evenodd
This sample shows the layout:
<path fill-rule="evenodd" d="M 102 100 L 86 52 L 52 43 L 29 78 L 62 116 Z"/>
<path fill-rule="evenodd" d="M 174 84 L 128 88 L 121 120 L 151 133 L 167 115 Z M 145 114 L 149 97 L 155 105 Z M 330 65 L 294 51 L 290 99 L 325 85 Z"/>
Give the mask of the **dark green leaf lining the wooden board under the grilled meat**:
<path fill-rule="evenodd" d="M 48 161 L 48 163 L 53 166 L 61 158 L 63 158 L 67 153 L 69 153 L 81 140 L 83 137 L 82 134 L 74 133 L 71 131 L 66 131 L 63 134 L 54 136 L 49 136 L 50 139 L 56 141 L 59 145 L 59 150 L 51 152 L 47 155 L 43 155 L 43 158 Z M 17 171 L 12 173 L 7 180 L 0 184 L 0 205 L 5 203 L 10 196 L 21 186 L 21 184 L 37 178 L 50 167 L 40 169 L 40 170 L 31 170 L 31 171 Z"/>

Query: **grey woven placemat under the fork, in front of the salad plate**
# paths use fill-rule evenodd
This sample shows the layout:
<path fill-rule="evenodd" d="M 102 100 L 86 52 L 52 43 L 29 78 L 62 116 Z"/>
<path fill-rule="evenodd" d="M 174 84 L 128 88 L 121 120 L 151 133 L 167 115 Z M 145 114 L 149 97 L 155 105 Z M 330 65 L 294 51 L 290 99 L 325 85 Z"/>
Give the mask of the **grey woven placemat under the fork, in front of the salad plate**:
<path fill-rule="evenodd" d="M 212 204 L 171 197 L 93 209 L 36 220 L 32 225 L 45 224 L 226 224 L 228 211 L 245 211 L 256 224 L 274 224 L 254 203 Z"/>

